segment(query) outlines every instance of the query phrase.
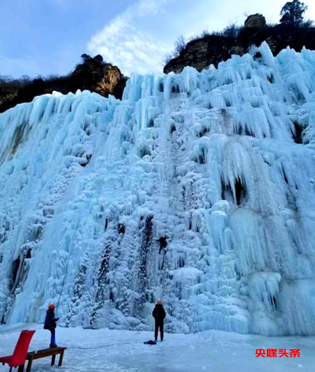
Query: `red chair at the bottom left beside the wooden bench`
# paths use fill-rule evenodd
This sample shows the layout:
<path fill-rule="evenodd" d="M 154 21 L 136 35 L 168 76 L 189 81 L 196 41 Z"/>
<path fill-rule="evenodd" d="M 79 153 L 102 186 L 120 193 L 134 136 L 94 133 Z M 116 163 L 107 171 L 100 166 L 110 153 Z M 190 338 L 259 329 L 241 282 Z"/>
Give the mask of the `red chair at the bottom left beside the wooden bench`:
<path fill-rule="evenodd" d="M 8 364 L 10 366 L 10 372 L 12 368 L 19 366 L 19 372 L 23 372 L 26 356 L 29 350 L 31 339 L 35 331 L 22 331 L 18 342 L 15 345 L 15 349 L 12 355 L 0 358 L 0 363 Z"/>

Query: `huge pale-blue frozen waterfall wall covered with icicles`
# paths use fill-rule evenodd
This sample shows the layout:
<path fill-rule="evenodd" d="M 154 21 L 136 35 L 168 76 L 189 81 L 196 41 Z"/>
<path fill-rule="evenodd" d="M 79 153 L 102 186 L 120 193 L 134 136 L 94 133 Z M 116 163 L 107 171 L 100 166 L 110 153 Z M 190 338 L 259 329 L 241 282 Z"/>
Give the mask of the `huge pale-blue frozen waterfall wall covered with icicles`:
<path fill-rule="evenodd" d="M 2 322 L 315 334 L 315 52 L 257 50 L 0 114 Z"/>

